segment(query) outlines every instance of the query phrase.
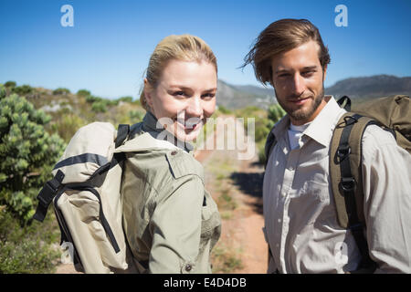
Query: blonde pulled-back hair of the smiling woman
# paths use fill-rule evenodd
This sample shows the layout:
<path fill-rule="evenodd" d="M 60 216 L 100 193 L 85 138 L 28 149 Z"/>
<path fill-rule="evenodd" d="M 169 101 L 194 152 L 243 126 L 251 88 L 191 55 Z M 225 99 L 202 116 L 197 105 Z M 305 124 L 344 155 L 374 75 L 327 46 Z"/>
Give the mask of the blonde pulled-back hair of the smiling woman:
<path fill-rule="evenodd" d="M 154 48 L 146 70 L 147 81 L 153 88 L 157 86 L 163 68 L 171 60 L 205 61 L 213 64 L 217 71 L 216 56 L 203 39 L 191 35 L 166 36 Z M 149 110 L 144 97 L 144 89 L 142 89 L 140 102 L 145 110 Z"/>

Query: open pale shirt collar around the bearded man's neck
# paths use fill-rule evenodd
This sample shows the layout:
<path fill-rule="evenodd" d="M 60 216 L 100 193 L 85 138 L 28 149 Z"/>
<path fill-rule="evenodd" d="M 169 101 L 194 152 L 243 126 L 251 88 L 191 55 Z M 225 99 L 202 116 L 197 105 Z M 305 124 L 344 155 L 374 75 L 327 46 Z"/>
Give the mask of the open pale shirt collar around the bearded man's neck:
<path fill-rule="evenodd" d="M 328 147 L 332 139 L 332 130 L 345 110 L 340 108 L 332 96 L 324 96 L 324 98 L 329 99 L 327 104 L 302 134 Z M 272 132 L 279 137 L 288 130 L 289 126 L 290 116 L 287 114 L 277 122 Z"/>

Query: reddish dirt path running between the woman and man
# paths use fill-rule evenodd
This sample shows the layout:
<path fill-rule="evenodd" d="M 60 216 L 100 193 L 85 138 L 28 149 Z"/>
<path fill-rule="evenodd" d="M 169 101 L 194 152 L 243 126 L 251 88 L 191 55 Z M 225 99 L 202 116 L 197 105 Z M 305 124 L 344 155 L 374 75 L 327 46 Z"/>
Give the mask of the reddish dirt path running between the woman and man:
<path fill-rule="evenodd" d="M 235 131 L 237 140 L 244 141 L 244 129 L 238 122 Z M 261 230 L 263 168 L 257 164 L 257 151 L 251 151 L 254 154 L 242 160 L 238 155 L 244 154 L 244 148 L 227 150 L 227 133 L 228 130 L 214 131 L 208 138 L 214 140 L 214 148 L 195 152 L 195 158 L 205 166 L 206 189 L 213 195 L 222 217 L 222 235 L 212 255 L 213 272 L 266 273 L 268 249 Z M 226 147 L 217 149 L 218 143 Z M 248 148 L 255 148 L 253 141 Z M 59 265 L 57 273 L 77 272 L 67 264 Z"/>

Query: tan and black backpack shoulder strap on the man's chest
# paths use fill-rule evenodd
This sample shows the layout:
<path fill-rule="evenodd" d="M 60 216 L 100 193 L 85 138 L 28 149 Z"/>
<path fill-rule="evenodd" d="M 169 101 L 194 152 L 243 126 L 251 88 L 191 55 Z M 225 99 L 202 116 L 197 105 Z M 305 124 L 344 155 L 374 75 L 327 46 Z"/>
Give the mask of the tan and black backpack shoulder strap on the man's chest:
<path fill-rule="evenodd" d="M 364 130 L 375 121 L 347 112 L 332 135 L 330 176 L 338 223 L 350 229 L 363 255 L 359 267 L 373 266 L 364 238 L 364 193 L 362 180 L 362 140 Z"/>

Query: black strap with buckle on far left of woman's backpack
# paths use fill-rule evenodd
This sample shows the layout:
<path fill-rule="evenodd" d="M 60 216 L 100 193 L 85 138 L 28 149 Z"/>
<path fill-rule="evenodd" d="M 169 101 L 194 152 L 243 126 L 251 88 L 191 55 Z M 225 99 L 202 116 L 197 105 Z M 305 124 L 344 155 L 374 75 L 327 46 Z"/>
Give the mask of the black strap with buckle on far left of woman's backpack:
<path fill-rule="evenodd" d="M 36 213 L 33 215 L 33 219 L 43 222 L 46 218 L 48 205 L 53 201 L 53 198 L 58 193 L 58 189 L 61 186 L 61 182 L 64 179 L 64 173 L 58 170 L 56 175 L 48 181 L 44 187 L 41 189 L 40 193 L 37 195 L 37 209 Z"/>

